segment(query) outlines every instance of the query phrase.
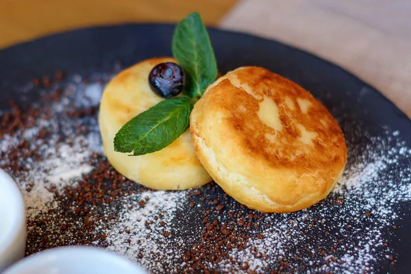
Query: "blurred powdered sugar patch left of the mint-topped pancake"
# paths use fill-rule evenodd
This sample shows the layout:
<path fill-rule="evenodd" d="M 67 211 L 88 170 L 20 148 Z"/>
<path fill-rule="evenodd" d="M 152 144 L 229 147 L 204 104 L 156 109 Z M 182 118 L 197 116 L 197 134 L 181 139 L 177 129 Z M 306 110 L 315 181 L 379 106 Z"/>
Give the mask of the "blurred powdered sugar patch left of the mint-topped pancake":
<path fill-rule="evenodd" d="M 88 88 L 81 84 L 75 88 L 69 84 L 64 92 L 66 95 L 74 93 L 78 97 L 77 103 L 87 105 L 88 101 L 86 100 L 88 99 L 81 96 L 87 90 Z M 92 90 L 96 93 L 95 97 L 102 92 L 101 88 L 98 90 L 95 86 L 92 87 Z M 82 174 L 92 171 L 92 166 L 88 164 L 88 160 L 93 151 L 88 147 L 101 147 L 101 141 L 95 138 L 95 132 L 88 132 L 84 136 L 75 136 L 77 125 L 84 123 L 84 119 L 74 121 L 62 116 L 70 104 L 71 101 L 67 98 L 51 103 L 50 108 L 53 110 L 55 119 L 40 118 L 36 121 L 35 127 L 25 129 L 21 132 L 21 136 L 6 134 L 0 140 L 0 152 L 5 155 L 8 155 L 8 151 L 11 149 L 18 147 L 21 142 L 27 141 L 29 148 L 41 156 L 41 160 L 18 159 L 17 162 L 24 166 L 27 171 L 19 171 L 18 176 L 14 176 L 23 190 L 29 219 L 58 206 L 53 201 L 53 192 L 74 184 L 82 177 Z M 97 126 L 97 123 L 92 124 Z M 41 129 L 47 129 L 53 134 L 45 136 L 45 138 L 36 138 Z M 69 142 L 61 142 L 62 136 L 75 136 L 75 138 L 69 138 Z M 5 158 L 0 159 L 0 164 L 3 165 L 5 162 Z"/>

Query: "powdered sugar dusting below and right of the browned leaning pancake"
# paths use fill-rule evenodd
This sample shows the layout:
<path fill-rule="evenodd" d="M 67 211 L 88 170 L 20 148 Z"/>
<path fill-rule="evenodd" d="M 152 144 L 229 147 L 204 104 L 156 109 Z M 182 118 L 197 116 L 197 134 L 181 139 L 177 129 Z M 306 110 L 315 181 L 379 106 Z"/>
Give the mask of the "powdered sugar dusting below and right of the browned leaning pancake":
<path fill-rule="evenodd" d="M 332 248 L 335 242 L 343 247 L 345 253 L 294 261 L 288 259 L 288 264 L 291 269 L 299 269 L 302 261 L 308 264 L 308 273 L 377 271 L 375 264 L 388 261 L 393 254 L 386 245 L 387 232 L 389 234 L 395 221 L 400 218 L 396 206 L 399 202 L 411 201 L 411 153 L 405 142 L 395 138 L 397 136 L 398 132 L 388 130 L 383 137 L 369 136 L 369 142 L 362 149 L 364 153 L 359 153 L 356 147 L 349 149 L 350 163 L 332 192 L 332 196 L 344 197 L 343 205 L 329 207 L 320 204 L 301 212 L 271 215 L 265 221 L 273 220 L 273 225 L 263 229 L 264 238 L 253 240 L 251 246 L 257 247 L 258 252 L 269 258 L 284 259 L 290 256 L 289 249 L 306 247 L 311 252 L 327 246 Z M 366 225 L 368 214 L 372 225 Z M 308 236 L 314 219 L 317 219 L 316 223 L 321 222 L 324 238 Z M 313 240 L 312 244 L 307 245 L 308 240 Z M 230 256 L 249 262 L 249 269 L 252 270 L 266 269 L 270 264 L 264 258 L 253 256 L 249 249 L 233 250 Z"/>

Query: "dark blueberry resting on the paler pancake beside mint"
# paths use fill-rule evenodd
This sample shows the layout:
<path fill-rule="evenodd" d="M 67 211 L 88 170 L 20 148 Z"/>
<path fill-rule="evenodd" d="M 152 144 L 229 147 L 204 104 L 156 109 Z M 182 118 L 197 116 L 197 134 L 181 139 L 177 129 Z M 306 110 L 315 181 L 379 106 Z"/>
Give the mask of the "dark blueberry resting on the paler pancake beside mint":
<path fill-rule="evenodd" d="M 149 83 L 153 92 L 164 98 L 175 97 L 182 92 L 185 82 L 181 66 L 166 62 L 154 66 L 149 74 Z"/>

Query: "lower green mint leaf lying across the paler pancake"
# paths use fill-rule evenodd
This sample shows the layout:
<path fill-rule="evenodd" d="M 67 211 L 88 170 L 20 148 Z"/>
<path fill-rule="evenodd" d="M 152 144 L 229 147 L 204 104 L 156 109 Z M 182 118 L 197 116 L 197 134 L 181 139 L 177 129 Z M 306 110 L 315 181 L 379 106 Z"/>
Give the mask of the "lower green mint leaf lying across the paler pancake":
<path fill-rule="evenodd" d="M 164 149 L 186 132 L 193 102 L 188 97 L 161 101 L 127 122 L 114 137 L 114 151 L 143 155 Z"/>

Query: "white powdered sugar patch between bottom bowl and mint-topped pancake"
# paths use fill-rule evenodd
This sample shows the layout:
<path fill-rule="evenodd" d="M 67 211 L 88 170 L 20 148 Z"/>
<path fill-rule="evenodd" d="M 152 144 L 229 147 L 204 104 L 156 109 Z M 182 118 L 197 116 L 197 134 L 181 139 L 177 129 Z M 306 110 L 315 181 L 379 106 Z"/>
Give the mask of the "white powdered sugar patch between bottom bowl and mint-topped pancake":
<path fill-rule="evenodd" d="M 159 272 L 169 269 L 167 262 L 159 260 L 159 257 L 178 259 L 182 255 L 175 253 L 173 241 L 168 242 L 164 239 L 173 237 L 170 225 L 176 210 L 182 210 L 185 195 L 184 191 L 145 192 L 142 196 L 147 202 L 143 208 L 138 207 L 140 195 L 128 197 L 125 200 L 127 203 L 123 206 L 125 214 L 122 214 L 119 223 L 107 232 L 108 241 L 112 243 L 108 249 L 132 260 L 140 255 L 139 262 L 146 269 Z M 130 206 L 132 206 L 131 210 L 129 210 Z M 159 214 L 161 218 L 158 217 Z M 166 238 L 164 234 L 167 235 Z"/>

